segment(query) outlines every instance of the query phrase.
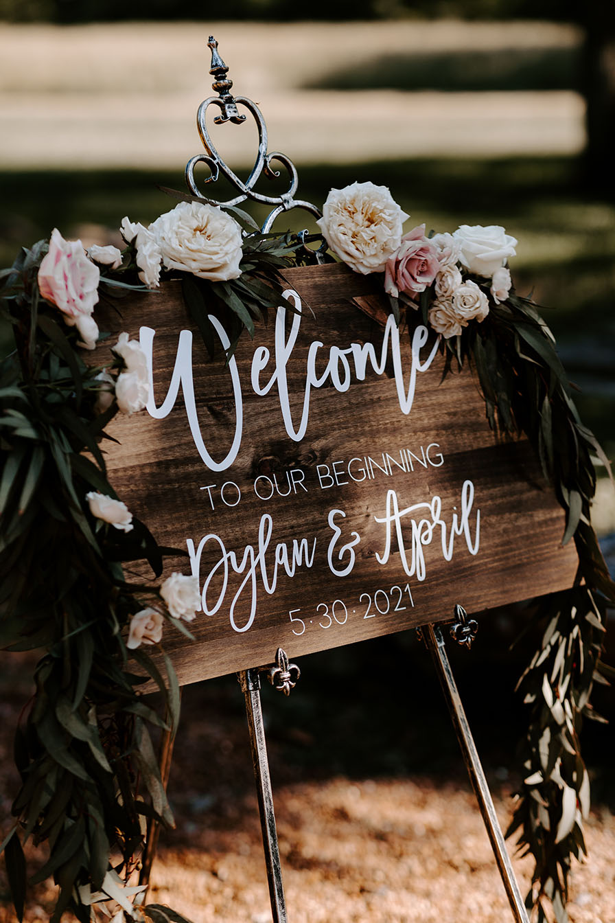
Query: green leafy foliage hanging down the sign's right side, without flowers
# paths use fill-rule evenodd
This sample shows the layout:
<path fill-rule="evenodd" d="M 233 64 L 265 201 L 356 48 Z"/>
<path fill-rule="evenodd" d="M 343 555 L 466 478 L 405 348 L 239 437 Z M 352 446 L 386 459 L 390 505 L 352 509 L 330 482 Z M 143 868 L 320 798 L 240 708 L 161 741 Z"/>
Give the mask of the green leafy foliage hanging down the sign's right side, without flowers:
<path fill-rule="evenodd" d="M 489 297 L 488 283 L 466 274 Z M 408 326 L 427 324 L 431 294 L 420 295 L 420 310 L 407 309 Z M 403 306 L 402 306 L 403 307 Z M 400 305 L 396 306 L 399 311 Z M 603 610 L 615 603 L 615 583 L 591 526 L 596 490 L 595 462 L 609 461 L 574 406 L 555 341 L 536 306 L 514 291 L 481 323 L 441 341 L 444 375 L 467 363 L 476 373 L 491 429 L 501 438 L 529 438 L 545 478 L 565 511 L 562 544 L 574 540 L 578 555 L 575 585 L 539 601 L 538 650 L 517 689 L 529 711 L 521 744 L 523 783 L 507 835 L 518 834 L 519 849 L 535 860 L 526 896 L 538 923 L 551 905 L 558 923 L 568 919 L 572 857 L 585 854 L 583 821 L 589 809 L 589 782 L 579 734 L 583 717 L 602 721 L 589 698 L 594 682 L 607 682 L 600 663 Z"/>

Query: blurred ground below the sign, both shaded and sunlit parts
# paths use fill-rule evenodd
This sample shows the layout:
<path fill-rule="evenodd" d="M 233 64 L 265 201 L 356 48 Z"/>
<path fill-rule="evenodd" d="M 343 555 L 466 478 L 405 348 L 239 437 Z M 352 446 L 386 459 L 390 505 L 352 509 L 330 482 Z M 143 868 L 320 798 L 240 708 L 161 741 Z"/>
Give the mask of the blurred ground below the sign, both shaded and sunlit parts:
<path fill-rule="evenodd" d="M 329 652 L 327 663 L 338 677 L 350 659 L 362 672 L 361 664 L 370 658 L 376 666 L 390 659 L 396 650 L 391 644 L 384 639 L 379 647 Z M 389 693 L 378 700 L 382 683 L 366 678 L 361 701 L 351 694 L 358 689 L 354 679 L 341 684 L 343 694 L 327 691 L 325 661 L 326 655 L 306 658 L 306 686 L 293 692 L 294 706 L 292 697 L 284 700 L 269 689 L 263 694 L 290 921 L 499 923 L 512 918 L 442 703 L 434 701 L 433 713 L 430 709 L 433 689 L 419 677 L 424 701 L 421 717 L 407 722 L 416 725 L 414 736 L 408 736 L 403 705 L 394 707 L 391 700 L 386 713 Z M 12 726 L 29 689 L 29 669 L 28 658 L 17 655 L 3 671 L 0 834 L 10 822 Z M 495 669 L 501 672 L 497 664 Z M 315 685 L 325 687 L 316 706 L 307 685 L 314 674 Z M 493 683 L 482 672 L 478 678 Z M 398 701 L 398 690 L 392 691 Z M 500 729 L 488 712 L 485 719 L 488 726 L 479 723 L 476 736 L 504 827 L 513 809 L 514 773 L 503 765 Z M 426 763 L 430 771 L 405 773 L 404 762 Z M 386 766 L 389 773 L 383 772 Z M 170 905 L 195 923 L 270 920 L 248 737 L 241 694 L 231 677 L 184 689 L 169 795 L 177 825 L 160 838 L 149 902 Z M 612 923 L 615 820 L 609 809 L 595 807 L 586 833 L 589 859 L 574 865 L 570 918 Z M 35 865 L 41 863 L 42 853 L 30 855 Z M 514 868 L 526 893 L 531 861 L 514 857 Z M 53 887 L 47 882 L 30 893 L 24 920 L 48 920 L 52 907 Z M 15 919 L 2 880 L 0 923 Z"/>

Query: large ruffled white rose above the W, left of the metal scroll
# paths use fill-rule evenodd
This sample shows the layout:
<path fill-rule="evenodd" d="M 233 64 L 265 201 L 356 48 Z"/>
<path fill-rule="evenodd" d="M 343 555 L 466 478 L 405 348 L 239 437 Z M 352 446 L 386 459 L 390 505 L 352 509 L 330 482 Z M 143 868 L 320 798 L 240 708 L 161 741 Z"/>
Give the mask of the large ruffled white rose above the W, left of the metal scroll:
<path fill-rule="evenodd" d="M 169 270 L 192 272 L 214 282 L 242 274 L 242 229 L 231 215 L 213 205 L 180 202 L 152 222 L 148 231 Z"/>

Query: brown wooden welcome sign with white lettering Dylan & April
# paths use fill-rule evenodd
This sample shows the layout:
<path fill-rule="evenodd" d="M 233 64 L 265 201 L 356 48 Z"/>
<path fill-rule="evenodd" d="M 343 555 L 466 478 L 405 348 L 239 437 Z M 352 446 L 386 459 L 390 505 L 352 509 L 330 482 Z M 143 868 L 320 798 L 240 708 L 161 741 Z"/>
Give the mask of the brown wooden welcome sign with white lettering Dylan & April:
<path fill-rule="evenodd" d="M 112 483 L 198 577 L 182 683 L 569 586 L 562 509 L 526 439 L 497 442 L 471 374 L 442 380 L 433 336 L 386 318 L 340 264 L 288 270 L 287 300 L 211 362 L 179 283 L 131 296 L 148 411 L 108 431 Z M 126 302 L 124 301 L 124 304 Z M 374 310 L 375 309 L 375 310 Z"/>

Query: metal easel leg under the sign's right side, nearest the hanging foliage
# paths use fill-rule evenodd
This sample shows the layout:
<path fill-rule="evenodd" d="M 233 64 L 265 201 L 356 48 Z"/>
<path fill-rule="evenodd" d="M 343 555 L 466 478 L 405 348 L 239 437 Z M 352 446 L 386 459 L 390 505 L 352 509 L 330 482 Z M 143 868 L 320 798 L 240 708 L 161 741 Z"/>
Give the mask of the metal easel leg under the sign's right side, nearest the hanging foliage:
<path fill-rule="evenodd" d="M 474 738 L 467 724 L 466 713 L 459 697 L 448 656 L 444 649 L 442 629 L 439 625 L 426 625 L 421 629 L 421 634 L 432 654 L 433 663 L 442 684 L 444 698 L 451 713 L 456 735 L 459 739 L 464 760 L 466 761 L 467 773 L 469 774 L 476 797 L 479 800 L 480 813 L 482 814 L 482 819 L 485 822 L 485 827 L 489 834 L 493 855 L 500 869 L 504 889 L 508 896 L 514 919 L 517 923 L 529 923 L 526 905 L 523 902 L 519 886 L 514 877 L 513 866 L 511 865 L 511 860 L 508 856 L 506 845 L 504 844 L 500 823 L 495 813 L 495 808 L 493 807 L 489 785 L 487 785 L 487 779 L 485 778 L 485 773 L 480 764 Z"/>

